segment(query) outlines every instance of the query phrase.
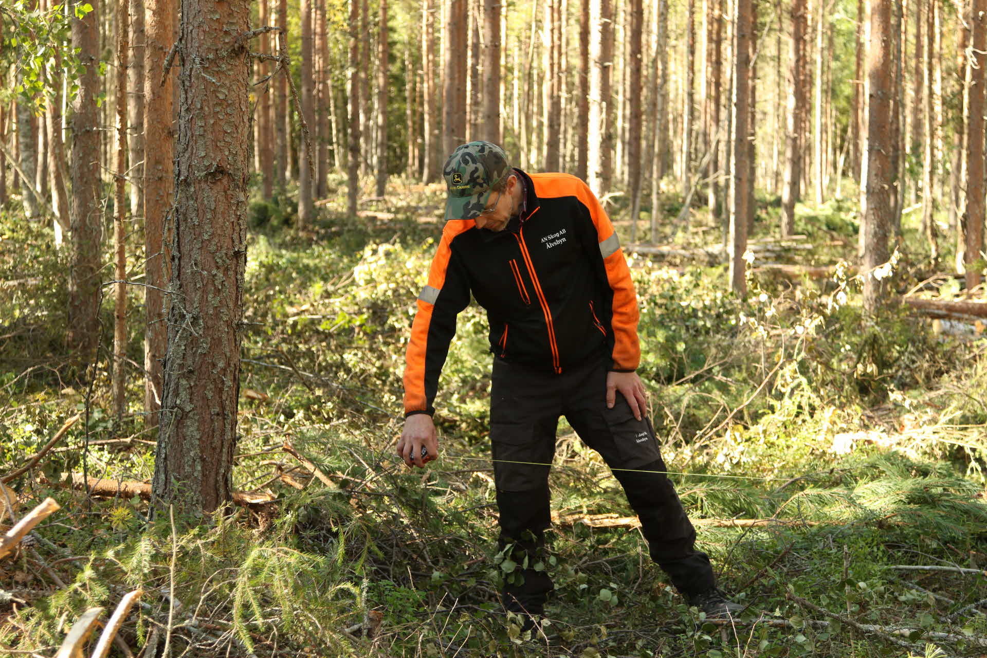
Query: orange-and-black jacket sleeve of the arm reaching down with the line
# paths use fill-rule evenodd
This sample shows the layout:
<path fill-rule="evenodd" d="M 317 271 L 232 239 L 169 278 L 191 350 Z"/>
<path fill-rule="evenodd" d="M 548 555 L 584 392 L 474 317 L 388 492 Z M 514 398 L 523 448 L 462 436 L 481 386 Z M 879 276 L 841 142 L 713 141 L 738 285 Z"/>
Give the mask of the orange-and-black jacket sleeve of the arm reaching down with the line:
<path fill-rule="evenodd" d="M 465 270 L 451 249 L 452 239 L 467 228 L 464 224 L 453 220 L 446 225 L 428 270 L 428 283 L 418 295 L 418 312 L 405 354 L 406 416 L 435 412 L 438 378 L 456 334 L 456 316 L 470 303 Z"/>

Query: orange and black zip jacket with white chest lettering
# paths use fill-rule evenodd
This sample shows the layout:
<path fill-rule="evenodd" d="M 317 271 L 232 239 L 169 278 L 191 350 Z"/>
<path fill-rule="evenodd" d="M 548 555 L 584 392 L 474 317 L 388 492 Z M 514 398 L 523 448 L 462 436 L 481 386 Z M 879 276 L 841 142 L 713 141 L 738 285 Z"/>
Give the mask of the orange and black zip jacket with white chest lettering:
<path fill-rule="evenodd" d="M 487 310 L 491 351 L 562 373 L 591 358 L 638 367 L 638 300 L 617 234 L 586 183 L 514 170 L 520 217 L 503 231 L 450 220 L 418 296 L 405 368 L 405 414 L 433 413 L 439 373 L 470 293 Z"/>

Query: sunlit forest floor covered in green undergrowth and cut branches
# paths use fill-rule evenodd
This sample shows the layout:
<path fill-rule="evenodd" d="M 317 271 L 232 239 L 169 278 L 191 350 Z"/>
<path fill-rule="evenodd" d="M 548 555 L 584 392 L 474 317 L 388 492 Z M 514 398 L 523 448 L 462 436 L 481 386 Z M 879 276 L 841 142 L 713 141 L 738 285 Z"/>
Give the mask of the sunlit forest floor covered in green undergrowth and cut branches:
<path fill-rule="evenodd" d="M 85 609 L 112 609 L 137 588 L 141 603 L 119 635 L 133 655 L 166 645 L 175 656 L 987 654 L 987 607 L 968 607 L 987 598 L 982 327 L 907 308 L 868 319 L 849 266 L 822 279 L 759 269 L 853 263 L 850 201 L 799 206 L 804 237 L 781 243 L 778 200 L 759 197 L 752 241 L 774 247 L 752 250 L 743 301 L 728 292 L 723 264 L 631 257 L 640 373 L 663 456 L 683 474 L 672 478 L 722 588 L 746 612 L 723 624 L 684 604 L 649 562 L 617 481 L 563 421 L 545 565 L 557 592 L 550 623 L 530 637 L 497 599 L 513 566 L 495 554 L 491 356 L 479 309 L 460 317 L 443 373 L 440 459 L 413 473 L 393 453 L 441 190 L 396 182 L 392 194 L 352 219 L 341 192 L 320 204 L 306 235 L 291 228 L 287 204 L 252 204 L 234 485 L 271 502 L 174 535 L 167 515 L 149 522 L 140 497 L 87 500 L 63 484 L 83 472 L 149 481 L 143 379 L 135 367 L 131 415 L 117 425 L 112 300 L 92 385 L 80 385 L 63 347 L 64 255 L 48 229 L 2 216 L 0 282 L 18 283 L 0 283 L 0 474 L 23 466 L 67 417 L 88 422 L 8 483 L 19 513 L 49 495 L 62 509 L 30 548 L 0 561 L 0 655 L 51 656 Z M 677 225 L 680 198 L 662 202 L 658 244 L 721 242 L 707 208 Z M 937 272 L 918 221 L 905 215 L 890 274 L 898 294 Z M 629 223 L 617 226 L 627 244 Z M 130 262 L 139 281 L 143 255 Z M 948 277 L 934 283 L 928 294 L 958 292 Z M 142 298 L 134 287 L 135 365 Z"/>

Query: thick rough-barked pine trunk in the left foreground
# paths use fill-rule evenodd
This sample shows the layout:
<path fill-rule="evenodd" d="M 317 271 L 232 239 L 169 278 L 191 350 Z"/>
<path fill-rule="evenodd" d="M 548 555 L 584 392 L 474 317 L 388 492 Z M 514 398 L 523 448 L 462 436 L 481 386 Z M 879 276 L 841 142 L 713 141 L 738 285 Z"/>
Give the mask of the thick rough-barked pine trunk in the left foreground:
<path fill-rule="evenodd" d="M 153 496 L 201 516 L 232 500 L 250 153 L 248 0 L 183 0 L 175 249 Z M 217 95 L 221 89 L 225 94 Z"/>

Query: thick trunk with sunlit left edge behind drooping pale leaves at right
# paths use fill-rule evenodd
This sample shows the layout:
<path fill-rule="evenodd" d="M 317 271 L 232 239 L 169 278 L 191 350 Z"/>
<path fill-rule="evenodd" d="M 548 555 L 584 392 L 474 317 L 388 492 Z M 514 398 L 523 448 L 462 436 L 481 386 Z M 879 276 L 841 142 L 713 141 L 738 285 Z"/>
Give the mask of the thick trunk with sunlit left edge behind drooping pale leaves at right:
<path fill-rule="evenodd" d="M 870 104 L 868 110 L 867 221 L 864 246 L 864 308 L 875 312 L 887 300 L 887 280 L 874 269 L 888 259 L 891 226 L 890 143 L 893 43 L 891 3 L 873 0 L 868 48 Z"/>

